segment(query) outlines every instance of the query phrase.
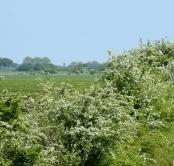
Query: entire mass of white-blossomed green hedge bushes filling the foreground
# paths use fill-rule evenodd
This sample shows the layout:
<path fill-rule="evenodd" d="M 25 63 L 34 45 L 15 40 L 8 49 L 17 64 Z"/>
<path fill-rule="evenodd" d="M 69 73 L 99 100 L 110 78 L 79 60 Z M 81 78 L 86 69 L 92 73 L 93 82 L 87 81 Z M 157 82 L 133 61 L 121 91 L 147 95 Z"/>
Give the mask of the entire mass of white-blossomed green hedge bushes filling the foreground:
<path fill-rule="evenodd" d="M 174 160 L 174 44 L 111 56 L 85 92 L 44 83 L 35 99 L 4 91 L 2 166 L 164 166 Z"/>

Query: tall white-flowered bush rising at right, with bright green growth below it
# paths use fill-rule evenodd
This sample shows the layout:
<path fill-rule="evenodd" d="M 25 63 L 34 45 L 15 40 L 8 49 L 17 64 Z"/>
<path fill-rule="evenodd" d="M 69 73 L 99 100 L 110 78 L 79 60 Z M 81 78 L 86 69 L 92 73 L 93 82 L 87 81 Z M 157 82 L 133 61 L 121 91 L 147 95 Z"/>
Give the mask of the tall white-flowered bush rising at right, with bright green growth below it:
<path fill-rule="evenodd" d="M 111 57 L 102 81 L 110 81 L 116 93 L 132 97 L 131 115 L 139 127 L 137 138 L 116 145 L 113 157 L 108 152 L 103 165 L 163 166 L 173 161 L 173 48 L 165 41 L 148 42 L 126 55 Z"/>

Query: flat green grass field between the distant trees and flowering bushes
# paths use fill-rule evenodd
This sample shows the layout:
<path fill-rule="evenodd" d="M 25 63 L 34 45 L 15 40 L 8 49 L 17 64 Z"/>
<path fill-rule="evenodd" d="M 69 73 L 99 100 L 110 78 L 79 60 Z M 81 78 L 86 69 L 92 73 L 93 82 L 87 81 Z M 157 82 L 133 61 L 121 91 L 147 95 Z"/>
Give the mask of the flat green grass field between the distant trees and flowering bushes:
<path fill-rule="evenodd" d="M 42 87 L 41 80 L 56 82 L 59 86 L 62 82 L 71 84 L 74 88 L 83 90 L 88 88 L 95 80 L 95 75 L 29 75 L 18 73 L 1 74 L 4 80 L 0 80 L 0 91 L 7 89 L 11 92 L 37 93 Z"/>

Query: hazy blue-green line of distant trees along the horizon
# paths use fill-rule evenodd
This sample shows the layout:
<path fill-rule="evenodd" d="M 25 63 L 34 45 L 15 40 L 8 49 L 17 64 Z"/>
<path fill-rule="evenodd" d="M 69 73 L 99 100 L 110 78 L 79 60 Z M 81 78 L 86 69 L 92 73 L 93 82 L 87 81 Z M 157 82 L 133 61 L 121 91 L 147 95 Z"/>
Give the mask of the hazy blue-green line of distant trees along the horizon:
<path fill-rule="evenodd" d="M 25 57 L 22 64 L 14 63 L 8 58 L 0 58 L 1 71 L 29 71 L 29 72 L 45 72 L 54 74 L 57 72 L 67 73 L 90 73 L 104 71 L 106 63 L 99 63 L 97 61 L 91 62 L 71 62 L 69 65 L 55 65 L 48 57 Z"/>

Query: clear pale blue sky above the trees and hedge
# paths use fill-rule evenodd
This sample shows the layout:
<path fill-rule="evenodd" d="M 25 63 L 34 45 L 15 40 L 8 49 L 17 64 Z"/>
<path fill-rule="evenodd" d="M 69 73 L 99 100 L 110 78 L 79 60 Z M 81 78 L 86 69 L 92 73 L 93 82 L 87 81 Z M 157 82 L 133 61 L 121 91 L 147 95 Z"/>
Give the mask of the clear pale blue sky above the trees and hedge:
<path fill-rule="evenodd" d="M 174 41 L 173 0 L 0 0 L 0 57 L 104 62 L 139 39 Z"/>

